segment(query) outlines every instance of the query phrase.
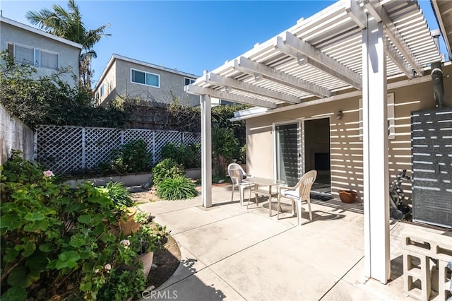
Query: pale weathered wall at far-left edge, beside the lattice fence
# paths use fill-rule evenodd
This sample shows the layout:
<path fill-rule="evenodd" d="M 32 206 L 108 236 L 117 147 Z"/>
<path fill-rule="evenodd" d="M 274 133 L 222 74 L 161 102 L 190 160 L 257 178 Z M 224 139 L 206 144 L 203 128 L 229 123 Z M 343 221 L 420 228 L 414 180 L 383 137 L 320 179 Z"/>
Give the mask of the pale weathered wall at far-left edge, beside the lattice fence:
<path fill-rule="evenodd" d="M 33 159 L 34 133 L 16 117 L 11 117 L 0 104 L 0 165 L 11 155 L 11 150 L 23 151 L 26 160 Z"/>

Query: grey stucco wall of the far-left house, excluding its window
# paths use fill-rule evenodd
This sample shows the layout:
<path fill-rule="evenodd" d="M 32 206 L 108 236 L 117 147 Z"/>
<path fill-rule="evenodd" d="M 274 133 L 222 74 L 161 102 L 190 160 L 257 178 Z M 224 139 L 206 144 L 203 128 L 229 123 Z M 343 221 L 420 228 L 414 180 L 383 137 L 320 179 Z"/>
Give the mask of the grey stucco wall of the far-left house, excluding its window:
<path fill-rule="evenodd" d="M 57 52 L 59 54 L 59 68 L 71 67 L 71 73 L 61 75 L 61 79 L 67 83 L 75 86 L 77 81 L 74 81 L 73 74 L 78 76 L 78 59 L 80 56 L 80 49 L 67 45 L 63 42 L 44 37 L 36 33 L 32 33 L 23 28 L 1 22 L 0 30 L 0 51 L 4 51 L 9 43 L 16 43 L 28 47 L 48 50 L 49 52 Z M 35 67 L 37 69 L 37 76 L 48 76 L 54 72 L 54 69 L 45 67 Z"/>

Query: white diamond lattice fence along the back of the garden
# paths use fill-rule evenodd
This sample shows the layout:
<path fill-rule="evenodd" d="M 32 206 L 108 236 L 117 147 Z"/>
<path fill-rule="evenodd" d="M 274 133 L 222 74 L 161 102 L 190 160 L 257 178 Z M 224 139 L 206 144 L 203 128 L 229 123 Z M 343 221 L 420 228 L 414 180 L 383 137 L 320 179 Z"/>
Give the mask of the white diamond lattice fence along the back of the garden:
<path fill-rule="evenodd" d="M 39 126 L 35 131 L 36 160 L 50 170 L 67 173 L 92 169 L 108 162 L 111 151 L 132 140 L 143 139 L 155 164 L 167 143 L 201 143 L 201 134 L 147 129 L 110 129 L 81 126 Z"/>

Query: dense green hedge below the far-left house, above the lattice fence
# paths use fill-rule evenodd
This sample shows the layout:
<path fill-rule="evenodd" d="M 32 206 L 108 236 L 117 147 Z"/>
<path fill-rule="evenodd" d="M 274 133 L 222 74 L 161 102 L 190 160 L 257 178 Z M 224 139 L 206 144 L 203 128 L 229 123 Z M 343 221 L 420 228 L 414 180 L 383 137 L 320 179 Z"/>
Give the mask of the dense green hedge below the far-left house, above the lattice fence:
<path fill-rule="evenodd" d="M 49 76 L 37 76 L 37 69 L 18 64 L 0 53 L 0 102 L 8 112 L 35 129 L 40 124 L 78 126 L 124 126 L 129 114 L 113 105 L 95 107 L 88 88 L 70 85 L 61 68 Z M 76 75 L 73 75 L 76 77 Z M 73 81 L 77 83 L 77 81 Z"/>

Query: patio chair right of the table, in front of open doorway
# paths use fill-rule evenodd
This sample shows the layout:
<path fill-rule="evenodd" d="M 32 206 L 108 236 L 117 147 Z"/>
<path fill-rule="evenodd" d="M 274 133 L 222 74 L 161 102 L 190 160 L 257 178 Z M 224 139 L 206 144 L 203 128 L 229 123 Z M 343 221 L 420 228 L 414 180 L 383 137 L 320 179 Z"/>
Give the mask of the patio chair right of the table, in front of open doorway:
<path fill-rule="evenodd" d="M 311 211 L 311 187 L 317 177 L 316 170 L 306 172 L 294 187 L 278 187 L 278 219 L 280 218 L 280 201 L 281 198 L 292 200 L 292 214 L 294 206 L 297 208 L 298 225 L 302 225 L 302 201 L 307 201 L 309 220 L 312 220 Z"/>

